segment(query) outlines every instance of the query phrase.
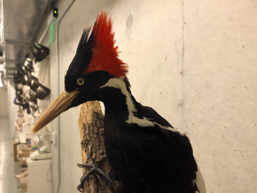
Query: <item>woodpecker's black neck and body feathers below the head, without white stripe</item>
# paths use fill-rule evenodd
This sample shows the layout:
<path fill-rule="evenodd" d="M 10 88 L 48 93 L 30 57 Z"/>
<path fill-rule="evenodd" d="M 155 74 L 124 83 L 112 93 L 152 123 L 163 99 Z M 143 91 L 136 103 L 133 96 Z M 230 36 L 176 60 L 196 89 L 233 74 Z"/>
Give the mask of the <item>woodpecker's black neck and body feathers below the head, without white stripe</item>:
<path fill-rule="evenodd" d="M 124 182 L 126 191 L 195 193 L 197 187 L 192 185 L 192 179 L 196 178 L 197 164 L 188 138 L 159 125 L 141 127 L 126 123 L 125 96 L 117 89 L 109 92 L 117 98 L 103 100 L 106 154 L 116 179 Z M 133 102 L 138 117 L 171 127 L 152 108 Z"/>

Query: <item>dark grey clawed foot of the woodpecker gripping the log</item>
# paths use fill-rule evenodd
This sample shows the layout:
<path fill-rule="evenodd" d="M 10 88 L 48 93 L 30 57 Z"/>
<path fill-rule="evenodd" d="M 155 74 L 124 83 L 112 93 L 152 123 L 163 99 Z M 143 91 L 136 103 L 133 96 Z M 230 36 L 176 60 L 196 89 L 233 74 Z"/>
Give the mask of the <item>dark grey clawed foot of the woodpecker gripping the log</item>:
<path fill-rule="evenodd" d="M 106 175 L 102 170 L 100 170 L 100 168 L 95 165 L 95 163 L 93 162 L 93 158 L 91 156 L 91 151 L 90 151 L 90 147 L 89 147 L 89 154 L 88 154 L 88 157 L 87 157 L 87 161 L 88 161 L 88 158 L 91 160 L 91 163 L 85 163 L 85 164 L 80 164 L 80 163 L 77 163 L 77 166 L 79 166 L 80 168 L 91 168 L 91 170 L 89 170 L 89 172 L 84 176 L 84 178 L 81 180 L 81 183 L 77 186 L 77 190 L 79 192 L 82 192 L 82 187 L 86 181 L 86 179 L 90 176 L 90 175 L 96 175 L 96 177 L 98 178 L 101 186 L 104 188 L 104 185 L 103 185 L 103 181 L 101 178 L 105 179 L 105 181 L 108 183 L 108 185 L 113 189 L 113 182 L 111 180 L 111 178 Z M 87 162 L 86 161 L 86 162 Z"/>

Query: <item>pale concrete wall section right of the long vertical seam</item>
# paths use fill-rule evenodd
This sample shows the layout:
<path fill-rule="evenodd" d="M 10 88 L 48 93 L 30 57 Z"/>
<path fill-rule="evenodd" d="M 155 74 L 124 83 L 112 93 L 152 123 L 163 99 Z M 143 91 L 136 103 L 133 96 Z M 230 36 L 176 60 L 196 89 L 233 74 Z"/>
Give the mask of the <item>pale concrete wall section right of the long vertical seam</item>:
<path fill-rule="evenodd" d="M 182 127 L 207 192 L 256 192 L 257 1 L 184 1 Z"/>

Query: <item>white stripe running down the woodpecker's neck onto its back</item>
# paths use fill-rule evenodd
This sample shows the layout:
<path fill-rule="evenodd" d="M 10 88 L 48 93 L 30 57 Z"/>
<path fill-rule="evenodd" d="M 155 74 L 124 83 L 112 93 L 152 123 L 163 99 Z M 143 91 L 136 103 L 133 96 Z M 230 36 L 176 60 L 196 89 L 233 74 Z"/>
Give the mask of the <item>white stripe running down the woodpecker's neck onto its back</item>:
<path fill-rule="evenodd" d="M 126 87 L 126 83 L 123 80 L 124 77 L 121 78 L 111 78 L 108 82 L 106 82 L 105 85 L 101 86 L 100 88 L 103 87 L 114 87 L 114 88 L 118 88 L 121 90 L 121 93 L 124 94 L 126 96 L 126 104 L 128 106 L 128 111 L 129 111 L 129 117 L 128 120 L 126 120 L 127 123 L 131 124 L 131 123 L 135 123 L 138 124 L 141 127 L 148 127 L 148 126 L 154 126 L 154 125 L 159 125 L 156 122 L 153 122 L 150 119 L 147 118 L 143 118 L 140 119 L 138 117 L 135 117 L 133 115 L 133 112 L 137 112 L 135 105 L 131 99 L 131 94 L 128 92 L 127 87 Z M 167 129 L 167 130 L 171 130 L 173 132 L 178 132 L 180 135 L 183 135 L 182 133 L 180 133 L 178 130 L 171 128 L 171 127 L 166 127 L 164 125 L 159 125 L 160 127 L 162 127 L 163 129 Z"/>

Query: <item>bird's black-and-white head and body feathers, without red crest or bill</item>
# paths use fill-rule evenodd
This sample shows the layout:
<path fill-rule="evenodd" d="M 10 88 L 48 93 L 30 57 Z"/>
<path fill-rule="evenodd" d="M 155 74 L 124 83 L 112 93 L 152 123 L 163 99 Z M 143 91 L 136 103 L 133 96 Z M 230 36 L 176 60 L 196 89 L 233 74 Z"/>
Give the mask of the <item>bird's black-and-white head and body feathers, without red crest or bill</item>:
<path fill-rule="evenodd" d="M 115 179 L 126 187 L 121 192 L 199 191 L 198 167 L 188 137 L 151 107 L 138 103 L 126 76 L 115 77 L 106 70 L 84 73 L 94 53 L 95 33 L 89 39 L 88 35 L 89 30 L 84 30 L 65 76 L 65 90 L 79 91 L 70 107 L 94 100 L 104 103 L 106 154 Z M 83 78 L 83 85 L 76 84 L 78 78 Z"/>

